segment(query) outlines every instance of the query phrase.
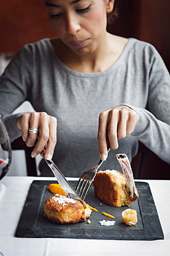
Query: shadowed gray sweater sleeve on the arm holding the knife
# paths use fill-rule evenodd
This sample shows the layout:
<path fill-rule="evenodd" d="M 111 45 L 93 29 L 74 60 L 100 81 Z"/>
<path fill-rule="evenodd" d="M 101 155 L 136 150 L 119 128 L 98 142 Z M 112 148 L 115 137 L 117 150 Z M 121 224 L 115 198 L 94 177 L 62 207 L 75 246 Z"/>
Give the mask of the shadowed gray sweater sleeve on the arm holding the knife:
<path fill-rule="evenodd" d="M 28 100 L 31 81 L 32 57 L 28 46 L 21 48 L 0 77 L 0 113 L 5 122 L 10 140 L 21 136 L 16 119 L 21 113 L 12 114 L 25 100 Z"/>

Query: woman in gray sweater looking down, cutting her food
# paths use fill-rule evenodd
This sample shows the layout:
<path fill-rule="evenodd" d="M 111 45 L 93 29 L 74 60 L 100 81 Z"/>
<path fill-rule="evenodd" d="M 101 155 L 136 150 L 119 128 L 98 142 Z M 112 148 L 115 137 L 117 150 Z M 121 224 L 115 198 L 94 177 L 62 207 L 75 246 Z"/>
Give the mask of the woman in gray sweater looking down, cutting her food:
<path fill-rule="evenodd" d="M 1 77 L 0 113 L 10 138 L 22 134 L 30 147 L 37 134 L 29 128 L 39 129 L 32 157 L 45 147 L 51 159 L 55 148 L 65 176 L 94 166 L 98 149 L 105 160 L 108 144 L 114 150 L 102 168 L 120 170 L 115 154 L 131 161 L 138 140 L 170 163 L 169 73 L 156 49 L 107 33 L 114 0 L 45 0 L 45 6 L 57 37 L 24 46 Z M 36 113 L 9 115 L 25 100 Z"/>

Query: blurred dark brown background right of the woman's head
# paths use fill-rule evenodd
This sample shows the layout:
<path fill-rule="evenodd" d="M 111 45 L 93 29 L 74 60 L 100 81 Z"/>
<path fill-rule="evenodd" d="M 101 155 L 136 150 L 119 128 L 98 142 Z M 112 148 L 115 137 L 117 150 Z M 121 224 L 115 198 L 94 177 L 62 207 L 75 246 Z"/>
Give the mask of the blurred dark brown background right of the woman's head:
<path fill-rule="evenodd" d="M 109 30 L 156 47 L 170 71 L 170 1 L 118 0 L 119 18 Z"/>

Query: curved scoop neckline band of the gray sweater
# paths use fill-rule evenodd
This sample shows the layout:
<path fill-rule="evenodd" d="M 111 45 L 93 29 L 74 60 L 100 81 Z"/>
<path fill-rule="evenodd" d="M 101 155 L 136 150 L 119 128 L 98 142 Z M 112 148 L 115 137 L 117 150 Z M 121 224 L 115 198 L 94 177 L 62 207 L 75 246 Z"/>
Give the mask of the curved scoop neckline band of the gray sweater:
<path fill-rule="evenodd" d="M 109 68 L 107 68 L 105 71 L 100 71 L 100 72 L 95 72 L 95 73 L 83 73 L 79 71 L 74 71 L 72 68 L 69 68 L 65 63 L 59 58 L 59 55 L 57 55 L 54 47 L 52 46 L 50 42 L 50 38 L 43 39 L 45 43 L 47 43 L 47 46 L 50 48 L 50 51 L 52 53 L 52 56 L 56 58 L 57 62 L 59 65 L 67 72 L 72 73 L 72 75 L 78 75 L 78 76 L 83 76 L 83 77 L 89 77 L 89 76 L 100 76 L 100 75 L 107 75 L 108 73 L 114 71 L 114 69 L 123 61 L 125 58 L 127 52 L 129 51 L 129 48 L 131 48 L 131 43 L 133 41 L 133 38 L 128 38 L 128 42 L 123 49 L 123 52 L 120 54 L 118 57 L 118 60 L 114 64 L 112 64 Z"/>

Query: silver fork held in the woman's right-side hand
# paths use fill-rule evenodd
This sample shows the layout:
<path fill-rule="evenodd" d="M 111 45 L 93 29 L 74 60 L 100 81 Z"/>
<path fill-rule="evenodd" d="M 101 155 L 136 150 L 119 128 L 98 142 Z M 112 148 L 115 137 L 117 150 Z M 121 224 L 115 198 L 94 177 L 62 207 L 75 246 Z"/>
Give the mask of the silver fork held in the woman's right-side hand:
<path fill-rule="evenodd" d="M 109 153 L 109 150 L 110 150 L 110 148 L 107 150 L 107 153 Z M 83 172 L 80 179 L 78 180 L 78 183 L 76 185 L 76 192 L 77 192 L 78 196 L 80 196 L 83 201 L 84 201 L 85 196 L 89 190 L 89 186 L 91 185 L 92 181 L 94 180 L 94 177 L 96 176 L 96 172 L 97 172 L 98 168 L 100 167 L 100 165 L 103 164 L 103 162 L 104 161 L 100 159 L 100 161 L 98 161 L 97 165 L 95 165 L 91 169 Z"/>

